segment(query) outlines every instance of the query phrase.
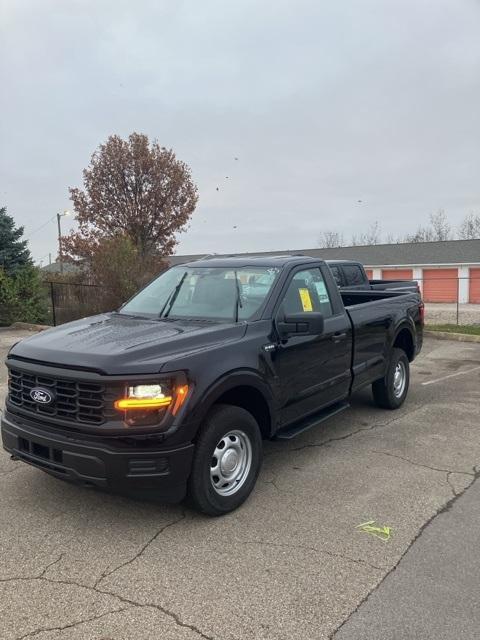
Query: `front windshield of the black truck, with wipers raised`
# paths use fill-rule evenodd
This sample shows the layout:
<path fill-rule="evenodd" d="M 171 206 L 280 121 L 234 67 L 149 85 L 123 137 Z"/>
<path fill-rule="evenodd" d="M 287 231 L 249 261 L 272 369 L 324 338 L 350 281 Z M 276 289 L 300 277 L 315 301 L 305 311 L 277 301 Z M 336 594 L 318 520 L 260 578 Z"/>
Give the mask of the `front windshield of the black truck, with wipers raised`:
<path fill-rule="evenodd" d="M 127 302 L 120 313 L 248 320 L 264 302 L 278 272 L 274 267 L 173 267 Z"/>

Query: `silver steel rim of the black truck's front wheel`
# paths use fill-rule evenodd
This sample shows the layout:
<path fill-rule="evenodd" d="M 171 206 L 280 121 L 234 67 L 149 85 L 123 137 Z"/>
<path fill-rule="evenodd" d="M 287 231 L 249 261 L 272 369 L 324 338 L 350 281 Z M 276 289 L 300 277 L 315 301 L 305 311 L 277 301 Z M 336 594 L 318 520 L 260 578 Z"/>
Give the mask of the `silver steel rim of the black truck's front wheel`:
<path fill-rule="evenodd" d="M 210 463 L 210 481 L 220 496 L 231 496 L 245 484 L 252 466 L 252 444 L 244 431 L 234 429 L 217 443 Z"/>

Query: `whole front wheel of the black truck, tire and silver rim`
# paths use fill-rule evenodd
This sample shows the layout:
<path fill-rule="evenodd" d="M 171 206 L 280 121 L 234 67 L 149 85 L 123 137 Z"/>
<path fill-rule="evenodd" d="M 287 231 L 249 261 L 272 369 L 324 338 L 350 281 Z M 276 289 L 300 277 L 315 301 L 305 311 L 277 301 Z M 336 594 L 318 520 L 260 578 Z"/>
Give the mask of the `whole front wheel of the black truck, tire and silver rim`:
<path fill-rule="evenodd" d="M 222 443 L 221 450 L 217 449 L 217 445 Z M 215 451 L 219 456 L 214 456 Z M 230 458 L 222 453 L 227 451 Z M 249 459 L 249 464 L 245 462 L 242 474 L 241 462 L 244 458 Z M 233 470 L 233 474 L 240 474 L 238 480 L 232 480 L 229 485 L 228 482 L 223 483 L 226 478 L 222 475 L 214 475 L 215 469 L 220 474 L 223 473 L 222 462 L 228 467 L 228 463 L 232 465 L 237 459 L 238 468 Z M 241 407 L 227 404 L 214 406 L 197 438 L 192 472 L 188 480 L 190 502 L 196 509 L 210 516 L 221 516 L 233 511 L 250 495 L 261 465 L 262 437 L 255 418 Z M 230 490 L 232 493 L 228 494 Z"/>

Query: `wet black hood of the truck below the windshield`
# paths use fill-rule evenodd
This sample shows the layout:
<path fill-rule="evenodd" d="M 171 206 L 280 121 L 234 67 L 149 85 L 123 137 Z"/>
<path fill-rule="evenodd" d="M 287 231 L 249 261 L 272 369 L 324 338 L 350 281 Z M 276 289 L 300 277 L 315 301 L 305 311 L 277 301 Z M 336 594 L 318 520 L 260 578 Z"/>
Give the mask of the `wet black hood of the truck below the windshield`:
<path fill-rule="evenodd" d="M 244 323 L 162 321 L 108 313 L 26 338 L 9 357 L 107 375 L 157 373 L 172 358 L 237 341 L 245 331 Z"/>

